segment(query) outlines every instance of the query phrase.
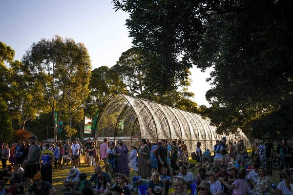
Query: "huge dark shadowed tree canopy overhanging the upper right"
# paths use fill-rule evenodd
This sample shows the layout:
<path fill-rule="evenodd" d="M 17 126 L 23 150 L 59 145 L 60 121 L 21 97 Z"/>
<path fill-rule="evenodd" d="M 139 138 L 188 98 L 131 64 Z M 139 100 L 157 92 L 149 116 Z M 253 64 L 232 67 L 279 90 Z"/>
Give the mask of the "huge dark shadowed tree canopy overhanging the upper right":
<path fill-rule="evenodd" d="M 154 91 L 176 87 L 176 78 L 186 78 L 184 70 L 193 65 L 214 68 L 206 97 L 218 129 L 233 132 L 242 126 L 251 131 L 252 121 L 279 110 L 292 97 L 292 1 L 113 3 L 130 13 L 126 26 L 134 47 L 146 53 L 146 82 Z"/>

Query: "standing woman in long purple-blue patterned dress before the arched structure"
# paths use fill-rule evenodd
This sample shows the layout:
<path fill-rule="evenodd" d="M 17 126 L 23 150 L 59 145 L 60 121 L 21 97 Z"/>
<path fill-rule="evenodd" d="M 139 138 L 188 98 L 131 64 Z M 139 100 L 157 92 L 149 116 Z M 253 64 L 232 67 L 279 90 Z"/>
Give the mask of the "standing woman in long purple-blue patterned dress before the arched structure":
<path fill-rule="evenodd" d="M 128 167 L 128 148 L 123 144 L 122 139 L 118 139 L 116 147 L 116 156 L 117 156 L 117 173 L 124 174 L 126 177 L 129 177 L 129 167 Z"/>

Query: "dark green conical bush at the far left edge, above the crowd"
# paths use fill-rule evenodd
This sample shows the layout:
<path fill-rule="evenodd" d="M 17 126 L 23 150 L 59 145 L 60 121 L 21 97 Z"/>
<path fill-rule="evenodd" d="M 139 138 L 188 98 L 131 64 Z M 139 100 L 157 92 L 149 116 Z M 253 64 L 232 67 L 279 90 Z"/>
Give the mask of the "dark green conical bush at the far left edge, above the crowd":
<path fill-rule="evenodd" d="M 6 102 L 0 98 L 0 140 L 8 142 L 13 138 L 13 129 Z"/>

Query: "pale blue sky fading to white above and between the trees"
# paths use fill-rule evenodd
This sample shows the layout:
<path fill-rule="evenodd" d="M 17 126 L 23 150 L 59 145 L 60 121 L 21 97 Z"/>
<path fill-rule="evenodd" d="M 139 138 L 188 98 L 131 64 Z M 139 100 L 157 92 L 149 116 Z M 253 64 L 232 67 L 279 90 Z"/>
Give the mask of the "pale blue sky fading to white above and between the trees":
<path fill-rule="evenodd" d="M 83 42 L 93 68 L 111 67 L 132 46 L 125 26 L 128 14 L 113 7 L 111 0 L 0 0 L 0 41 L 21 60 L 33 42 L 60 35 Z M 205 94 L 210 85 L 205 79 L 210 70 L 190 71 L 193 100 L 209 106 Z"/>

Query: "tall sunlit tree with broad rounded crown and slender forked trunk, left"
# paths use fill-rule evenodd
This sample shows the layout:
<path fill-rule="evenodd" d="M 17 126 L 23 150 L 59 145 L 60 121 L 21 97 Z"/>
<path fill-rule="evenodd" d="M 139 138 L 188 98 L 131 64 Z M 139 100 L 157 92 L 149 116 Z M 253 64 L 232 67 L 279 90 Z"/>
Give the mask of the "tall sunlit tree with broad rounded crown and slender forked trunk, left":
<path fill-rule="evenodd" d="M 22 62 L 32 77 L 42 84 L 43 93 L 46 94 L 51 108 L 53 124 L 56 123 L 54 112 L 58 110 L 58 124 L 72 89 L 84 98 L 83 91 L 87 90 L 91 73 L 87 49 L 83 43 L 55 36 L 51 40 L 41 39 L 34 42 L 23 56 Z M 58 128 L 54 125 L 55 140 L 57 131 Z"/>

